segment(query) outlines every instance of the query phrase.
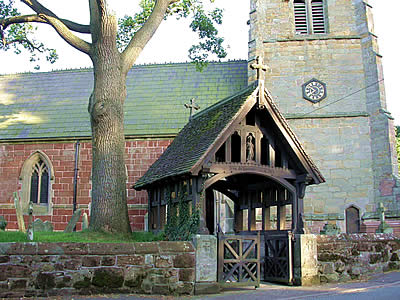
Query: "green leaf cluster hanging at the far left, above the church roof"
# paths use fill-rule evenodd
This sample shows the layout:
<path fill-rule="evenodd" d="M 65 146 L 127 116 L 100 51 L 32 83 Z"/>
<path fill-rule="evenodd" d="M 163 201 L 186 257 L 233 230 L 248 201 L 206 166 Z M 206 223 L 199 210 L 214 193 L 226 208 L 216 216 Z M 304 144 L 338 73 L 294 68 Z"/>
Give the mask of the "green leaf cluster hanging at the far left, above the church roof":
<path fill-rule="evenodd" d="M 0 0 L 0 21 L 2 19 L 20 16 L 16 8 L 14 8 L 14 0 Z M 39 62 L 44 56 L 50 63 L 54 63 L 58 54 L 55 49 L 47 48 L 41 42 L 33 38 L 33 34 L 37 28 L 29 23 L 12 24 L 7 26 L 0 22 L 0 50 L 12 49 L 16 54 L 26 51 L 30 54 L 31 62 Z M 40 66 L 36 65 L 35 69 Z"/>

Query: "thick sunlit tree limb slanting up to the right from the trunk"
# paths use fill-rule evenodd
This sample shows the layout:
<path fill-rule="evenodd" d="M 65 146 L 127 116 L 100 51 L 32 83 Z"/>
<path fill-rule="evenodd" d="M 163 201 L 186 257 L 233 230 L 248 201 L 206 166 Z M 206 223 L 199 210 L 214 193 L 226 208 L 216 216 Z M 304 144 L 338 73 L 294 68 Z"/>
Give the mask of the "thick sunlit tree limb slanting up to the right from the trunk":
<path fill-rule="evenodd" d="M 128 72 L 130 68 L 135 63 L 139 54 L 142 52 L 143 48 L 146 46 L 148 41 L 153 37 L 157 28 L 160 26 L 164 15 L 168 9 L 168 6 L 178 0 L 157 0 L 154 9 L 143 24 L 143 26 L 135 33 L 129 42 L 128 46 L 122 52 L 122 61 L 124 66 L 124 71 Z"/>

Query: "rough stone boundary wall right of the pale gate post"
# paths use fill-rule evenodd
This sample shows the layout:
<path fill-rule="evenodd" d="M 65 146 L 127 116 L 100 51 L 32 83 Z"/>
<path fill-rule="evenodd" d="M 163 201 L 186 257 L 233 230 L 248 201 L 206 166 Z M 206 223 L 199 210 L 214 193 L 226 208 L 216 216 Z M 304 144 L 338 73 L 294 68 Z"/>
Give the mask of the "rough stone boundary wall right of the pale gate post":
<path fill-rule="evenodd" d="M 321 283 L 400 269 L 400 237 L 393 234 L 317 235 L 317 249 Z"/>

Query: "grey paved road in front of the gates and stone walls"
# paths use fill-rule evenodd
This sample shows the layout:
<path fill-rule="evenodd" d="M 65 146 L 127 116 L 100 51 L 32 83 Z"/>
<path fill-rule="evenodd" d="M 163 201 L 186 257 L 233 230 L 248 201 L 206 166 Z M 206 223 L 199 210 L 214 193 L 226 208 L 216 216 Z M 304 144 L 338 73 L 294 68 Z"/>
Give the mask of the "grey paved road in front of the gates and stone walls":
<path fill-rule="evenodd" d="M 392 272 L 372 277 L 367 282 L 330 284 L 314 287 L 293 287 L 272 283 L 262 284 L 260 288 L 226 290 L 218 295 L 194 297 L 156 297 L 139 295 L 108 295 L 94 297 L 74 297 L 74 299 L 204 299 L 204 300 L 239 300 L 239 299 L 318 299 L 318 300 L 400 300 L 400 272 Z"/>

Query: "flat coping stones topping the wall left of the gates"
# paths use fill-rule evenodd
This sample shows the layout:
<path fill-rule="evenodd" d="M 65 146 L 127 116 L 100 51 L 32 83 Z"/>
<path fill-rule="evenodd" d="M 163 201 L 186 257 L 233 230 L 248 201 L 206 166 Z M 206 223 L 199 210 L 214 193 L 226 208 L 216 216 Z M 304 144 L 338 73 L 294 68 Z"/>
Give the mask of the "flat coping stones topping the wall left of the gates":
<path fill-rule="evenodd" d="M 0 243 L 0 255 L 119 255 L 195 252 L 191 242 Z"/>

